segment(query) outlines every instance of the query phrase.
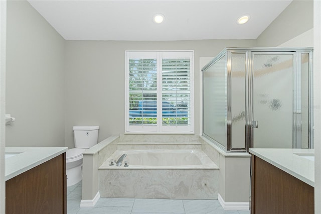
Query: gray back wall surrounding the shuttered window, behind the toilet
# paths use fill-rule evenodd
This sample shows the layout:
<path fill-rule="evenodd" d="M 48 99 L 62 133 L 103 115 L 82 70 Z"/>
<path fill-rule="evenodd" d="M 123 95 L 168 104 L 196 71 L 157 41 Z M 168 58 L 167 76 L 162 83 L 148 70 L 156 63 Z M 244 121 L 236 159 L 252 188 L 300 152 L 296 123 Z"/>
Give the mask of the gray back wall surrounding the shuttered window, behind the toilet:
<path fill-rule="evenodd" d="M 194 130 L 198 134 L 200 57 L 214 57 L 225 47 L 253 46 L 255 40 L 66 41 L 65 145 L 73 147 L 74 125 L 99 125 L 98 141 L 124 133 L 125 50 L 194 50 Z"/>

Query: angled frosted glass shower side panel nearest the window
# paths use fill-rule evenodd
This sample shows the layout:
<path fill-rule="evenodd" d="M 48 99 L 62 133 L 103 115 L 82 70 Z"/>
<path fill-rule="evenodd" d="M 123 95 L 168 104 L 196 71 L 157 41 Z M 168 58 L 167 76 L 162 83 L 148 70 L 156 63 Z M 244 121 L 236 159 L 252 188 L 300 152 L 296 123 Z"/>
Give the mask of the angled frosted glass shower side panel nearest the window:
<path fill-rule="evenodd" d="M 226 147 L 226 64 L 223 56 L 203 73 L 203 133 Z"/>

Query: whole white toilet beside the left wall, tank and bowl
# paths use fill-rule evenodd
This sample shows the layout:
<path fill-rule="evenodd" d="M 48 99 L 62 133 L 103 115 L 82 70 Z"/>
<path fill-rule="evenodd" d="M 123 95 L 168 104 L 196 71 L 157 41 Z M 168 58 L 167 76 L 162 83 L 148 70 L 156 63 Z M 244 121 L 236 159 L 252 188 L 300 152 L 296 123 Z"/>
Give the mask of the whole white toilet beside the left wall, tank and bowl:
<path fill-rule="evenodd" d="M 67 186 L 82 180 L 82 153 L 97 144 L 99 126 L 73 126 L 75 148 L 66 152 Z"/>

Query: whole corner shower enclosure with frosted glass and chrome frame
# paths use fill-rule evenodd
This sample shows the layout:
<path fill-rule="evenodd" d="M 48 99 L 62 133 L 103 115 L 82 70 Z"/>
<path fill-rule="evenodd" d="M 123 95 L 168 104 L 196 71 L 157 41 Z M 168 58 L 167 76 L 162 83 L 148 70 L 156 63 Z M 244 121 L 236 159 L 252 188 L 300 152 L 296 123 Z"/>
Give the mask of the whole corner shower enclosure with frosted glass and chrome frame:
<path fill-rule="evenodd" d="M 311 48 L 226 48 L 202 71 L 203 136 L 228 152 L 313 148 Z"/>

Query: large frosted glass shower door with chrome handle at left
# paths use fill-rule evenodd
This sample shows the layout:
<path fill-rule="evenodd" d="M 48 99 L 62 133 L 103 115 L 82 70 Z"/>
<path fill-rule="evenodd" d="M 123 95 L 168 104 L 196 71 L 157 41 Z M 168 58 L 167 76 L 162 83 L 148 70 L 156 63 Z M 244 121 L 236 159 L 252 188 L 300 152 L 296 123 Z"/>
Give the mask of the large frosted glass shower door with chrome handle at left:
<path fill-rule="evenodd" d="M 253 148 L 292 148 L 292 91 L 292 54 L 253 54 Z"/>

